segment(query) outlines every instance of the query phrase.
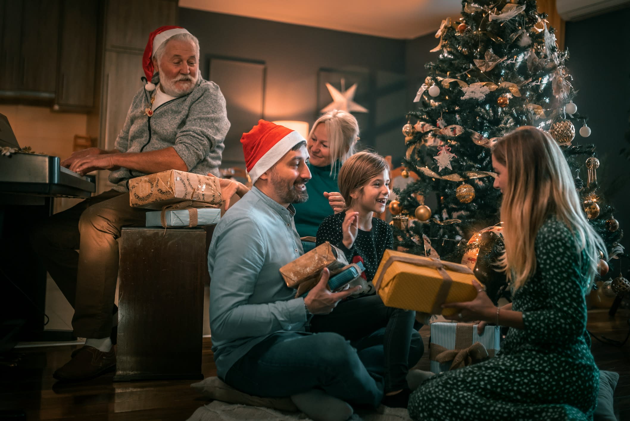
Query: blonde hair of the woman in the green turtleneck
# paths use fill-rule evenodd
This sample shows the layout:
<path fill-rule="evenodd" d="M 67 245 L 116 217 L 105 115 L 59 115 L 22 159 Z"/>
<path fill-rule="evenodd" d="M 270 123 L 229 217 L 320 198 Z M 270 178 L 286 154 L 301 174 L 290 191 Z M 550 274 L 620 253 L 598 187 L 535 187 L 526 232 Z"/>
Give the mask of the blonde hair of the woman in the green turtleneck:
<path fill-rule="evenodd" d="M 358 122 L 352 114 L 333 109 L 315 120 L 311 132 L 309 132 L 309 139 L 312 138 L 319 123 L 326 125 L 328 149 L 330 150 L 330 174 L 334 174 L 338 170 L 337 166 L 343 164 L 355 153 L 358 140 Z"/>

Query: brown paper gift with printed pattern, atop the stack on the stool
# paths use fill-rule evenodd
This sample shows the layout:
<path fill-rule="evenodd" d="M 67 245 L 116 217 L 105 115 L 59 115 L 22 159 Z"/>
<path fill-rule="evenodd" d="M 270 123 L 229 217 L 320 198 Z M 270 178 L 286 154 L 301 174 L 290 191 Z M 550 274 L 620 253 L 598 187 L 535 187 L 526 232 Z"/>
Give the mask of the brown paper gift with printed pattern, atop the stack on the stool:
<path fill-rule="evenodd" d="M 219 179 L 171 169 L 129 180 L 130 206 L 161 209 L 188 200 L 221 206 Z"/>

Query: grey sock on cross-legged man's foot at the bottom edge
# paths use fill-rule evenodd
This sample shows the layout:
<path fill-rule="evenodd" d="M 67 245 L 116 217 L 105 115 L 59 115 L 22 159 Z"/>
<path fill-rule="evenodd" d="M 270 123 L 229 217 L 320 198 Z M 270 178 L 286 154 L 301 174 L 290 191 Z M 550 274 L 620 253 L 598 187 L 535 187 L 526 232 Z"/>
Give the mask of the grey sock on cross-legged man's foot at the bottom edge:
<path fill-rule="evenodd" d="M 346 421 L 354 412 L 345 401 L 327 395 L 319 389 L 292 395 L 291 400 L 314 421 Z"/>

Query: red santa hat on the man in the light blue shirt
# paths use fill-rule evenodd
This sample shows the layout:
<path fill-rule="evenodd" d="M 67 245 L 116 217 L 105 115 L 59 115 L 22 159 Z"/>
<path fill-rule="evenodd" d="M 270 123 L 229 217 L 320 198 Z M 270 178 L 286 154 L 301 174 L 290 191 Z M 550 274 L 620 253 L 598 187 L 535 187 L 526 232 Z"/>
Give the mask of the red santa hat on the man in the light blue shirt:
<path fill-rule="evenodd" d="M 258 124 L 241 137 L 251 184 L 255 184 L 258 177 L 300 142 L 306 142 L 300 133 L 270 121 L 258 120 Z"/>

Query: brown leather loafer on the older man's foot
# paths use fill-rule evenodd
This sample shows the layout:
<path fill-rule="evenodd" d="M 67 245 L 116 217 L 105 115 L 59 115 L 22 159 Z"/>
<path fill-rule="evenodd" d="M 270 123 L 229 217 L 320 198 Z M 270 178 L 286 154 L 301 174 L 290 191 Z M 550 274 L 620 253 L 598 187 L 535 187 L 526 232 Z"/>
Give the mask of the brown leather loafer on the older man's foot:
<path fill-rule="evenodd" d="M 57 380 L 79 381 L 100 376 L 116 366 L 116 352 L 103 352 L 85 345 L 76 350 L 72 359 L 55 371 Z"/>

